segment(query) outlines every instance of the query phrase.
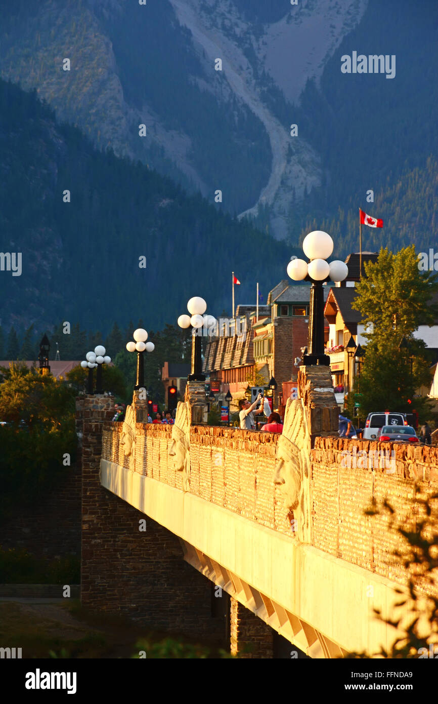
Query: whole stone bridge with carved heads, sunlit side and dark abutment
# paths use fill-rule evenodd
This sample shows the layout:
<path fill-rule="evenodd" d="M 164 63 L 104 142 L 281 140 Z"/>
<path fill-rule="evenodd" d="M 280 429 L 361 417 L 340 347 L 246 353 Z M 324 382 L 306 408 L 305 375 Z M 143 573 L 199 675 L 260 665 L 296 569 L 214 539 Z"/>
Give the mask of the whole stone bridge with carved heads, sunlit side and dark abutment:
<path fill-rule="evenodd" d="M 190 398 L 177 427 L 138 422 L 138 400 L 121 424 L 112 399 L 78 398 L 82 603 L 247 657 L 279 657 L 285 641 L 312 658 L 389 648 L 373 608 L 394 613 L 401 539 L 365 509 L 387 498 L 414 526 L 438 490 L 438 448 L 385 461 L 376 443 L 337 438 L 326 374 L 301 368 L 281 436 L 193 425 Z"/>

